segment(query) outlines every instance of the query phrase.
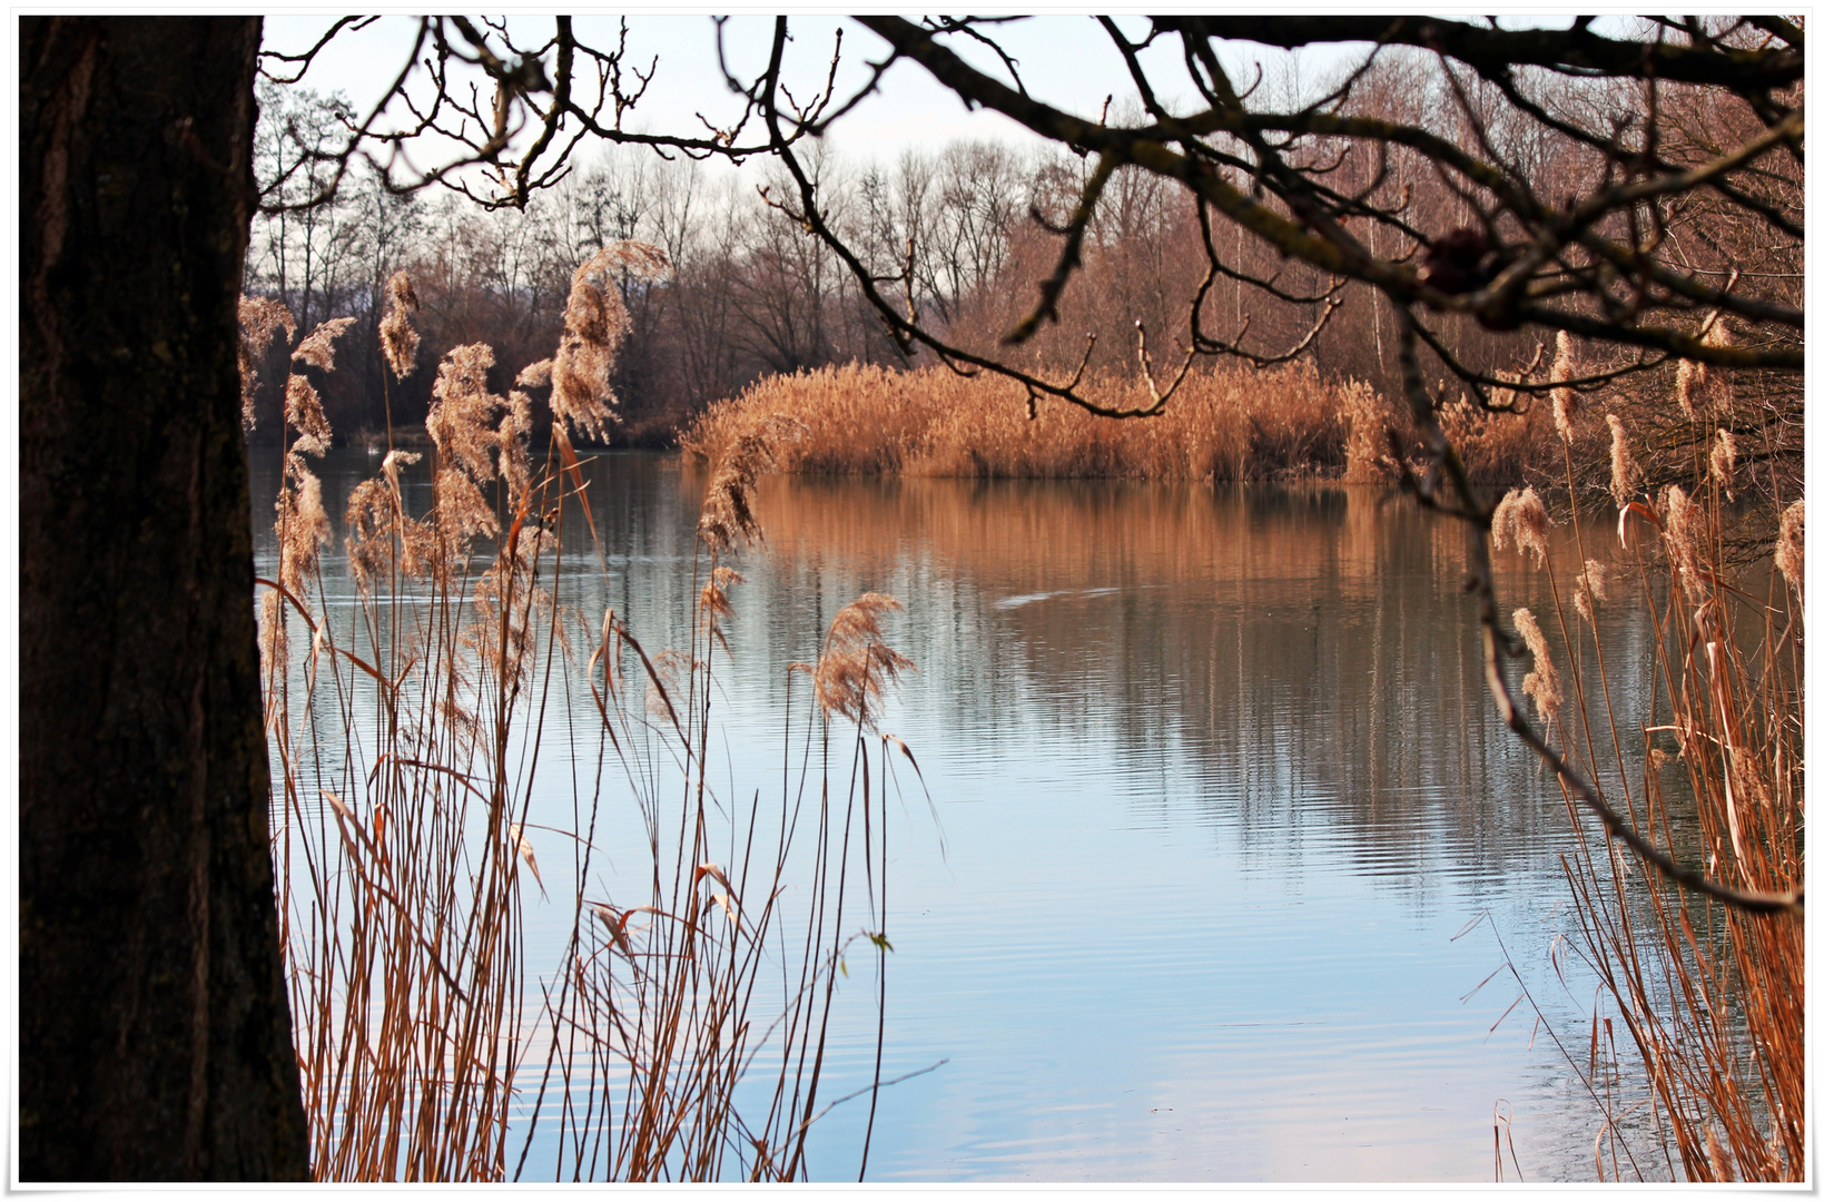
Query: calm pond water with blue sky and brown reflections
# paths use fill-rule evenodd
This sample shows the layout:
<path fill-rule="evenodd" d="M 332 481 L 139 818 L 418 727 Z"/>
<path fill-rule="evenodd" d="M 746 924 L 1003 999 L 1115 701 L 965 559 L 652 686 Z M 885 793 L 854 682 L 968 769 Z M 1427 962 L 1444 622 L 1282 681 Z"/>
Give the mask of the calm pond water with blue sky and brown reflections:
<path fill-rule="evenodd" d="M 578 523 L 560 600 L 682 646 L 704 476 L 586 469 L 609 573 Z M 330 513 L 374 471 L 336 452 Z M 770 478 L 757 509 L 728 795 L 777 793 L 784 666 L 843 604 L 905 602 L 888 638 L 917 662 L 881 722 L 932 801 L 890 810 L 883 1076 L 945 1063 L 883 1093 L 870 1180 L 1488 1180 L 1498 1107 L 1527 1180 L 1592 1175 L 1600 1116 L 1514 979 L 1468 996 L 1498 936 L 1567 1045 L 1592 990 L 1547 959 L 1572 832 L 1483 700 L 1459 529 L 1313 487 Z M 1543 615 L 1543 575 L 1501 567 Z M 1642 662 L 1629 638 L 1611 666 Z M 1642 682 L 1611 684 L 1625 719 Z M 540 773 L 531 821 L 562 826 L 569 768 Z M 529 963 L 567 923 L 529 905 Z M 826 1096 L 872 1078 L 870 978 L 843 985 Z M 866 1100 L 821 1120 L 812 1173 L 854 1178 L 865 1124 Z"/>

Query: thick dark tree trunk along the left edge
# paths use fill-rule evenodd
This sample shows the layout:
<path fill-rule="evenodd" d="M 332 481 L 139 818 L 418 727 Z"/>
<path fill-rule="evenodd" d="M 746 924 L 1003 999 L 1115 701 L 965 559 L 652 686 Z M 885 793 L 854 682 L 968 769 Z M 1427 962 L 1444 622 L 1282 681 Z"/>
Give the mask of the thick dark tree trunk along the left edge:
<path fill-rule="evenodd" d="M 303 1178 L 235 367 L 261 22 L 18 29 L 20 1175 Z"/>

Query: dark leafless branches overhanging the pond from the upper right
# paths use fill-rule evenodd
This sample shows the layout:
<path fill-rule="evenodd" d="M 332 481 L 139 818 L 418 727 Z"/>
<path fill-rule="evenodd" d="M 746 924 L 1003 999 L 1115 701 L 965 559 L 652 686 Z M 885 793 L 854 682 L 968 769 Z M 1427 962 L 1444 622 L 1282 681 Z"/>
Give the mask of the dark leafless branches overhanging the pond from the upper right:
<path fill-rule="evenodd" d="M 1361 308 L 1373 321 L 1375 354 L 1397 365 L 1423 443 L 1417 454 L 1399 447 L 1390 454 L 1423 505 L 1461 518 L 1472 534 L 1487 677 L 1501 719 L 1660 872 L 1738 907 L 1802 907 L 1802 894 L 1731 890 L 1673 863 L 1514 704 L 1505 666 L 1519 644 L 1501 627 L 1496 604 L 1492 498 L 1472 487 L 1439 420 L 1443 396 L 1426 385 L 1443 376 L 1474 405 L 1512 409 L 1552 387 L 1587 390 L 1669 372 L 1678 359 L 1793 379 L 1804 365 L 1802 290 L 1793 279 L 1804 239 L 1802 24 L 1662 16 L 1598 26 L 1580 16 L 1545 29 L 1421 16 L 1094 18 L 1098 36 L 1127 64 L 1140 111 L 1124 117 L 1105 108 L 1089 119 L 1025 88 L 1003 46 L 1005 18 L 855 20 L 885 46 L 866 60 L 859 88 L 835 88 L 837 38 L 823 86 L 793 93 L 782 71 L 792 24 L 781 16 L 757 77 L 724 67 L 742 100 L 735 122 L 655 135 L 624 124 L 653 69 L 627 60 L 624 27 L 615 46 L 591 47 L 567 18 L 536 44 L 516 40 L 503 22 L 425 18 L 394 89 L 348 122 L 339 148 L 314 153 L 330 186 L 365 159 L 394 188 L 443 182 L 489 206 L 525 206 L 591 139 L 688 157 L 770 155 L 786 184 L 768 192 L 772 204 L 815 235 L 815 254 L 834 257 L 903 354 L 925 350 L 963 372 L 1016 379 L 1034 407 L 1063 401 L 1113 418 L 1162 412 L 1198 357 L 1266 365 L 1299 356 L 1342 308 L 1344 290 L 1366 294 Z M 1235 47 L 1244 42 L 1355 46 L 1359 55 L 1333 88 L 1306 98 L 1237 77 Z M 972 66 L 958 47 L 987 47 L 1001 69 Z M 270 69 L 295 75 L 314 53 L 274 58 Z M 885 255 L 865 244 L 883 228 L 879 213 L 854 221 L 845 190 L 823 170 L 817 139 L 899 69 L 928 73 L 965 104 L 998 111 L 1082 162 L 1062 204 L 1031 197 L 1031 215 L 1054 239 L 1051 270 L 1000 345 L 954 336 L 945 321 L 954 310 L 943 299 L 994 254 L 979 239 L 1003 228 L 992 212 L 1007 197 L 1000 184 L 983 201 L 989 210 L 976 201 L 950 204 L 948 226 L 934 228 L 919 213 L 923 228 L 908 223 L 899 254 Z M 1162 100 L 1173 80 L 1189 84 L 1187 104 Z M 396 102 L 409 120 L 387 124 Z M 432 131 L 461 153 L 407 170 L 403 148 Z M 474 166 L 487 168 L 491 190 L 478 192 L 461 173 Z M 965 164 L 939 164 L 928 186 L 943 195 L 970 179 Z M 1437 202 L 1419 204 L 1417 193 Z M 925 202 L 927 193 L 917 195 Z M 1074 368 L 1058 368 L 1056 357 L 1051 368 L 1034 365 L 1020 348 L 1060 321 L 1096 223 L 1113 215 L 1120 226 L 1147 204 L 1164 212 L 1167 197 L 1195 223 L 1200 279 L 1171 317 L 1138 297 L 1124 303 L 1138 319 L 1133 354 L 1151 396 L 1124 409 L 1085 374 L 1089 347 Z M 1766 250 L 1744 261 L 1744 246 Z M 1257 330 L 1255 301 L 1302 310 L 1304 326 Z M 801 316 L 790 319 L 793 339 Z M 784 317 L 775 325 L 784 330 Z M 1729 337 L 1713 336 L 1718 326 Z M 1570 381 L 1536 370 L 1560 332 L 1587 348 L 1589 367 Z M 1505 365 L 1490 352 L 1490 336 L 1505 339 Z M 1538 350 L 1516 365 L 1512 348 L 1529 337 Z M 797 341 L 779 334 L 777 343 L 781 365 L 804 361 Z"/>

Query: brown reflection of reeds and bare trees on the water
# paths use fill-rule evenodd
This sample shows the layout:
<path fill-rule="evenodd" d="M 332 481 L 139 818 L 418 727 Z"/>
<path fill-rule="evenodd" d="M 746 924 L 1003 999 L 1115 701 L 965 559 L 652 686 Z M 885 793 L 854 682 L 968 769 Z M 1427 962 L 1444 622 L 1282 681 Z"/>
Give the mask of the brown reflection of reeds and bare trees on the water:
<path fill-rule="evenodd" d="M 368 469 L 345 463 L 330 507 Z M 558 600 L 584 627 L 613 606 L 648 648 L 684 646 L 702 476 L 662 456 L 586 471 L 609 573 L 571 511 Z M 784 666 L 815 655 L 843 598 L 881 589 L 908 604 L 896 646 L 945 737 L 1113 746 L 1127 804 L 1166 773 L 1160 821 L 1233 830 L 1264 868 L 1342 854 L 1425 888 L 1565 837 L 1561 801 L 1483 702 L 1463 534 L 1394 494 L 768 478 L 759 514 L 772 551 L 742 564 L 730 631 L 730 688 L 757 713 L 781 713 Z M 1543 578 L 1508 567 L 1541 604 Z M 1611 646 L 1645 662 L 1643 638 L 1618 624 Z M 1647 679 L 1611 686 L 1638 731 Z"/>

